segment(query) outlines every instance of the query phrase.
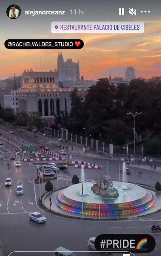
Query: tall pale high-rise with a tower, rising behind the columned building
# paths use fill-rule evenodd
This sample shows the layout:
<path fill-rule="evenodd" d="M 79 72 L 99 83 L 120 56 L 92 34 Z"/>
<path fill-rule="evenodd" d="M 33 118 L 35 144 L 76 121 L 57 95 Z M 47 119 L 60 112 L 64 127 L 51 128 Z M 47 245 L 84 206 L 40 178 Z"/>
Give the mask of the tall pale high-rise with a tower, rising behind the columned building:
<path fill-rule="evenodd" d="M 79 81 L 80 80 L 80 69 L 79 61 L 75 63 L 72 59 L 64 61 L 62 52 L 58 53 L 57 57 L 57 71 L 59 74 L 59 81 Z"/>

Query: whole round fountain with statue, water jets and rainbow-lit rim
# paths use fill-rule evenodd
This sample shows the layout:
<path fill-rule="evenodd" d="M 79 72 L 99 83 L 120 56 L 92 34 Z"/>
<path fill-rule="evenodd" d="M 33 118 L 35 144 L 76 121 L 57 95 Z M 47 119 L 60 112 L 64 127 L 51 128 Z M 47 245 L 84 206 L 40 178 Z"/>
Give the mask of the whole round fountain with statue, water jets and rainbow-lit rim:
<path fill-rule="evenodd" d="M 146 215 L 150 209 L 156 211 L 155 193 L 148 187 L 128 183 L 124 162 L 122 181 L 111 181 L 107 174 L 96 182 L 86 182 L 82 168 L 80 183 L 60 188 L 50 197 L 55 201 L 54 212 L 79 218 L 109 219 Z M 159 200 L 161 202 L 160 197 Z"/>

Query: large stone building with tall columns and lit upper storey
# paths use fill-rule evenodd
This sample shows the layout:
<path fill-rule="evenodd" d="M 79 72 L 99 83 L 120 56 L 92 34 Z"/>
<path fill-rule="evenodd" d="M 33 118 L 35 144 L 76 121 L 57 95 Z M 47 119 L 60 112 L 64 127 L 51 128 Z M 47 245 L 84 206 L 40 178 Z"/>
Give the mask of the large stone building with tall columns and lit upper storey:
<path fill-rule="evenodd" d="M 22 87 L 18 89 L 19 112 L 39 112 L 42 118 L 51 119 L 60 112 L 71 110 L 70 94 L 73 88 L 60 88 L 57 70 L 34 72 L 24 70 Z M 79 89 L 78 94 L 83 100 L 87 89 Z"/>

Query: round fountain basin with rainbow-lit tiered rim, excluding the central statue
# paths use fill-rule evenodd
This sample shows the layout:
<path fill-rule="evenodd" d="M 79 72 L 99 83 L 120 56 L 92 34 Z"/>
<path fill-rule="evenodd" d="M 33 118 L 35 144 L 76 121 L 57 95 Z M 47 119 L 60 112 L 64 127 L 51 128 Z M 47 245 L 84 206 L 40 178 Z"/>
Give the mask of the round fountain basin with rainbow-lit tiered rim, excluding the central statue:
<path fill-rule="evenodd" d="M 150 190 L 132 183 L 118 181 L 112 183 L 119 192 L 117 198 L 99 196 L 91 190 L 94 182 L 85 182 L 86 195 L 80 195 L 82 184 L 75 184 L 59 191 L 56 204 L 62 210 L 81 217 L 83 200 L 84 216 L 108 218 L 136 215 L 148 210 L 155 204 L 154 196 Z M 123 187 L 128 187 L 128 189 L 124 190 Z"/>

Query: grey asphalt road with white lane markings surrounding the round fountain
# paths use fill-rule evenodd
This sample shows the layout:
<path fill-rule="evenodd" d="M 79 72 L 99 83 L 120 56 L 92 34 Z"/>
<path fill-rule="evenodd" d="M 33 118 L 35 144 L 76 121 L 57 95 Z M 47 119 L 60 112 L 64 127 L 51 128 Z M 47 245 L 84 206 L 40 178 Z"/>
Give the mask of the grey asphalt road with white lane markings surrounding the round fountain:
<path fill-rule="evenodd" d="M 0 140 L 3 140 L 3 138 Z M 8 149 L 11 151 L 8 151 Z M 54 251 L 59 246 L 63 246 L 71 251 L 88 251 L 87 241 L 92 236 L 102 233 L 151 234 L 150 226 L 154 221 L 157 221 L 161 225 L 160 212 L 142 218 L 133 218 L 124 221 L 72 220 L 43 213 L 47 218 L 47 223 L 38 225 L 30 221 L 28 215 L 29 212 L 40 212 L 36 201 L 40 196 L 40 191 L 42 194 L 42 184 L 39 187 L 39 185 L 34 185 L 33 183 L 33 179 L 36 177 L 36 166 L 32 163 L 21 162 L 21 167 L 16 168 L 15 161 L 8 160 L 12 151 L 15 152 L 15 147 L 4 141 L 1 154 L 4 155 L 4 159 L 6 157 L 6 160 L 0 163 L 0 240 L 3 244 L 4 256 L 7 256 L 13 251 Z M 21 158 L 22 154 L 20 153 L 18 157 Z M 83 159 L 80 157 L 79 160 Z M 86 159 L 85 161 L 88 160 L 90 159 Z M 11 163 L 11 169 L 9 170 L 7 168 L 8 162 Z M 92 162 L 102 165 L 103 169 L 86 169 L 86 180 L 97 180 L 107 172 L 106 160 L 95 159 Z M 109 161 L 108 172 L 112 180 L 119 179 L 118 169 L 118 161 Z M 154 185 L 157 180 L 161 179 L 159 172 L 142 170 L 142 178 L 139 178 L 137 175 L 138 169 L 130 167 L 130 170 L 131 174 L 128 176 L 129 182 Z M 70 167 L 69 171 L 68 184 L 71 183 L 73 174 L 77 174 L 79 177 L 81 176 L 80 169 Z M 4 186 L 4 182 L 8 177 L 12 178 L 12 186 L 7 188 Z M 60 172 L 58 174 L 58 186 L 65 185 L 66 182 L 66 175 Z M 18 184 L 23 185 L 23 196 L 16 196 L 16 186 Z M 53 185 L 54 187 L 57 186 L 56 180 L 53 181 Z M 161 252 L 161 233 L 152 235 L 156 240 L 156 249 L 149 253 L 149 255 L 159 256 Z M 80 256 L 91 254 L 100 255 L 98 252 L 92 251 L 75 252 L 75 254 Z M 19 254 L 13 255 L 17 256 Z M 32 254 L 30 253 L 29 255 Z M 36 253 L 36 255 L 39 256 L 39 253 Z M 50 256 L 52 254 L 48 253 L 48 255 Z"/>

